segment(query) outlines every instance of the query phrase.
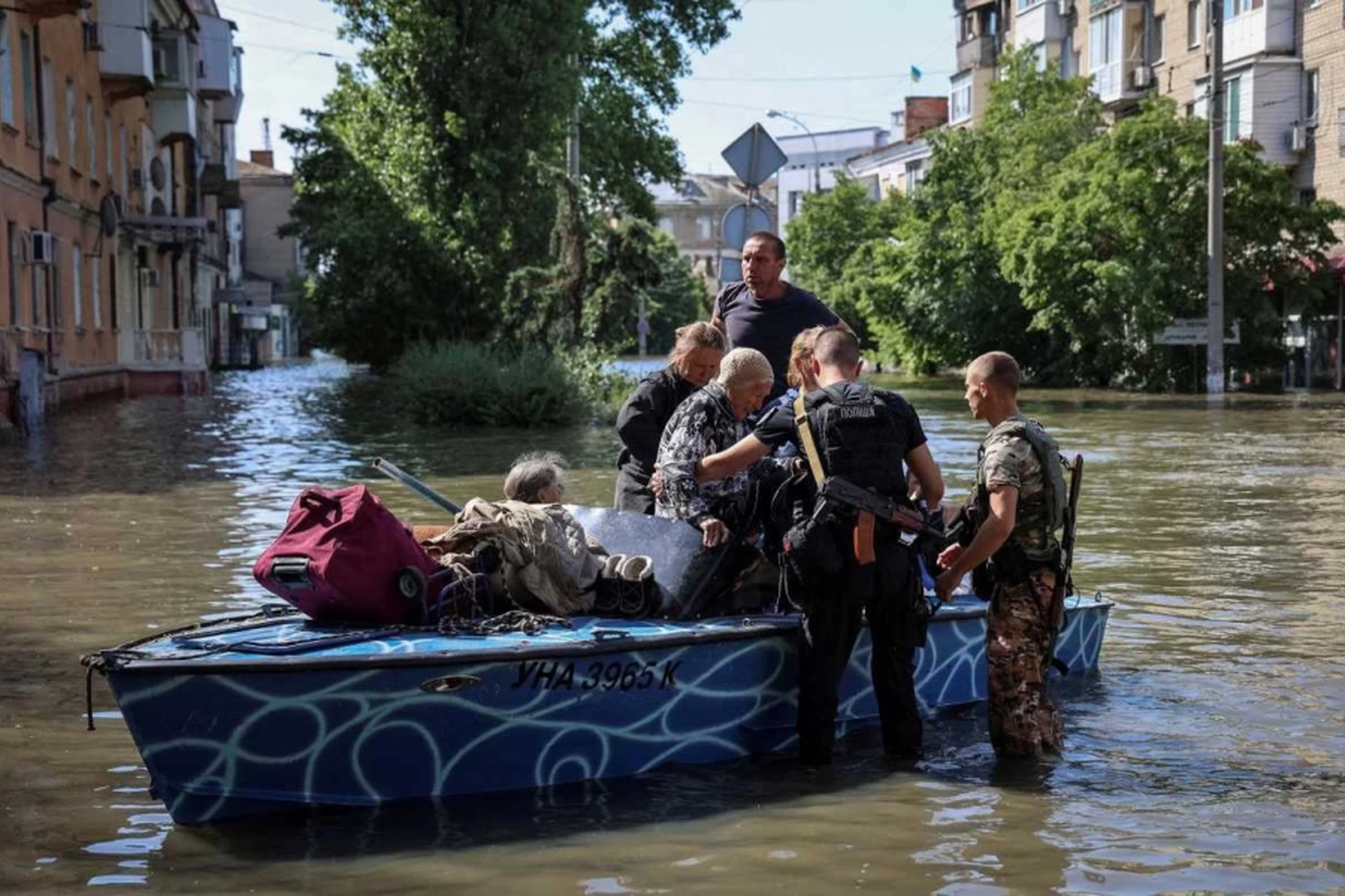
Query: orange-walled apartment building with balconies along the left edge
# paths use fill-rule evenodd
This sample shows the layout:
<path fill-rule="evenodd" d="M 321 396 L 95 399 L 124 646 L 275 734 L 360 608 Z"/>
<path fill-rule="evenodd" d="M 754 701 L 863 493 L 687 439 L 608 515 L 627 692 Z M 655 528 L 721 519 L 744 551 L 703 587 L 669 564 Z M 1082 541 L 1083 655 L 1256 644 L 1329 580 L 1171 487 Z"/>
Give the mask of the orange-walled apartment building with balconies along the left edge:
<path fill-rule="evenodd" d="M 238 204 L 233 32 L 214 0 L 0 8 L 0 414 L 204 388 Z"/>

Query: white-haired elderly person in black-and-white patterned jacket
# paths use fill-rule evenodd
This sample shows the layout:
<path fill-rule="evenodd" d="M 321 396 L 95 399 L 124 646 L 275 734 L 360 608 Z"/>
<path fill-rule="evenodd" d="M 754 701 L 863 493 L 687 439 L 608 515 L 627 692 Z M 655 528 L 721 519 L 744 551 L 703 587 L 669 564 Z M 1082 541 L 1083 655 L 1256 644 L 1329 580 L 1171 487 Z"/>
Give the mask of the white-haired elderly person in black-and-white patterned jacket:
<path fill-rule="evenodd" d="M 729 539 L 729 524 L 744 521 L 742 505 L 753 470 L 697 485 L 695 465 L 748 434 L 746 418 L 761 407 L 773 383 L 765 355 L 736 348 L 720 363 L 718 377 L 678 406 L 659 441 L 663 488 L 655 516 L 686 520 L 701 529 L 706 547 Z"/>

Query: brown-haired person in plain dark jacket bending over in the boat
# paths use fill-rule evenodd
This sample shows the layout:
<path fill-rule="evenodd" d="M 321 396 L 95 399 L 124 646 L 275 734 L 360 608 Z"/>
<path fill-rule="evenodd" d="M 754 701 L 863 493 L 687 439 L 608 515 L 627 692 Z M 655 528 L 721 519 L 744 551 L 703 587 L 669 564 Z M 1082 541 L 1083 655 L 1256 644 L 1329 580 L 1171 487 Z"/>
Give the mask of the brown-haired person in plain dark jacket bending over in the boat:
<path fill-rule="evenodd" d="M 722 359 L 724 333 L 705 321 L 687 324 L 677 332 L 668 365 L 640 380 L 625 399 L 616 418 L 617 435 L 625 445 L 616 461 L 617 510 L 654 513 L 650 477 L 663 427 L 686 396 L 718 375 Z"/>

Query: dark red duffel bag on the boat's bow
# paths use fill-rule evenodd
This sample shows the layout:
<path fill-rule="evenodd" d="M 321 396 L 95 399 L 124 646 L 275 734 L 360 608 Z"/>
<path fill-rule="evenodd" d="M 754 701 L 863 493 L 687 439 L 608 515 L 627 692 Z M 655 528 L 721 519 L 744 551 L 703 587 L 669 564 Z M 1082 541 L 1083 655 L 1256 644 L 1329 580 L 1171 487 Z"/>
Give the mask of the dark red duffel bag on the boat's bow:
<path fill-rule="evenodd" d="M 253 576 L 313 619 L 418 623 L 438 568 L 378 496 L 354 485 L 304 489 Z"/>

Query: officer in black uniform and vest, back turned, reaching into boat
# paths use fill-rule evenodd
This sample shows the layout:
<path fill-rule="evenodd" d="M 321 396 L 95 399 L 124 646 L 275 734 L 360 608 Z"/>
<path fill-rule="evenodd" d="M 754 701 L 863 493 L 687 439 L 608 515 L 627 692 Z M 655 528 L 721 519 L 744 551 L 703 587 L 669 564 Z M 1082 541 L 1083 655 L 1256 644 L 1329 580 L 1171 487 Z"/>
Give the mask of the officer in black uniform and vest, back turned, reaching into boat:
<path fill-rule="evenodd" d="M 751 435 L 702 459 L 697 478 L 728 476 L 792 439 L 802 454 L 812 454 L 823 477 L 843 477 L 898 501 L 908 500 L 905 463 L 925 500 L 937 505 L 943 476 L 929 454 L 920 418 L 896 392 L 857 383 L 861 367 L 859 341 L 853 332 L 843 325 L 823 330 L 812 351 L 819 388 L 803 399 L 812 445 L 803 437 L 794 410 L 776 408 Z M 808 537 L 814 544 L 820 540 L 823 548 L 808 549 L 803 568 L 787 572 L 791 598 L 804 610 L 799 642 L 800 758 L 812 766 L 831 760 L 841 678 L 866 614 L 884 748 L 894 758 L 916 759 L 923 731 L 915 695 L 915 649 L 924 643 L 925 633 L 915 552 L 902 544 L 894 527 L 877 521 L 874 556 L 858 557 L 855 512 L 835 506 L 814 516 L 814 501 L 815 492 L 808 489 L 795 519 L 815 521 Z M 837 568 L 818 568 L 829 566 L 829 553 Z"/>

